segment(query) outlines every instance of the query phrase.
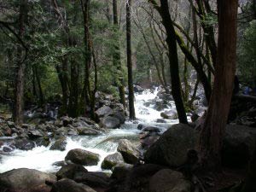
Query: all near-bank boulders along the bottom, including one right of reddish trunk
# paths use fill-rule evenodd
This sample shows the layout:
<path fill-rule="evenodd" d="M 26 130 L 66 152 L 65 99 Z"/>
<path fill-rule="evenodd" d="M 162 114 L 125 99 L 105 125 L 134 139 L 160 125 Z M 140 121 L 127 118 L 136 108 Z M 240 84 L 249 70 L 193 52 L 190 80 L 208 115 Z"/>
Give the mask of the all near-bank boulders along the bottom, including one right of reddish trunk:
<path fill-rule="evenodd" d="M 84 166 L 98 164 L 99 155 L 77 148 L 68 152 L 55 175 L 28 169 L 0 174 L 0 191 L 195 191 L 196 184 L 186 177 L 181 167 L 188 162 L 188 152 L 195 151 L 199 131 L 183 124 L 173 125 L 162 135 L 159 127 L 139 125 L 138 129 L 143 136 L 148 133 L 148 137 L 159 137 L 148 146 L 145 164 L 139 163 L 139 149 L 124 139 L 119 141 L 118 152 L 108 155 L 102 162 L 103 169 L 112 170 L 111 176 L 88 172 Z M 247 166 L 255 142 L 255 129 L 227 125 L 222 149 L 224 166 Z"/>

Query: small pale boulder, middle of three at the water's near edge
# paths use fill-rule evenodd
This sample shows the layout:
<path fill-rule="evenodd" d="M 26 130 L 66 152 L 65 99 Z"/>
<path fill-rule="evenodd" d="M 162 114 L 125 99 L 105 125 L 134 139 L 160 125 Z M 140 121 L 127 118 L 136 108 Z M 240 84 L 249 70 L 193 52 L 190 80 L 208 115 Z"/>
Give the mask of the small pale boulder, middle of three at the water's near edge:
<path fill-rule="evenodd" d="M 111 169 L 119 163 L 124 163 L 124 158 L 119 152 L 114 154 L 109 154 L 102 162 L 102 169 Z"/>

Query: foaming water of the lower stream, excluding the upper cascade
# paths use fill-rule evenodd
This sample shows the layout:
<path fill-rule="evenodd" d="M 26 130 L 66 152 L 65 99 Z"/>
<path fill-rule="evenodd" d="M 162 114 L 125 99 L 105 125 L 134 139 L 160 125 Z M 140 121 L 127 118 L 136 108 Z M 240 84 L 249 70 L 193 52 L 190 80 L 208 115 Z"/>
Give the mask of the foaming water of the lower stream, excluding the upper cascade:
<path fill-rule="evenodd" d="M 136 136 L 134 129 L 112 130 L 98 137 L 67 137 L 65 151 L 49 150 L 49 147 L 36 147 L 23 151 L 16 149 L 13 152 L 2 154 L 0 172 L 7 172 L 16 168 L 37 169 L 42 172 L 57 172 L 60 167 L 53 164 L 65 159 L 67 152 L 73 148 L 82 148 L 90 152 L 100 154 L 100 161 L 96 166 L 85 166 L 90 172 L 102 171 L 102 160 L 113 154 L 118 147 L 118 140 L 124 137 Z"/>

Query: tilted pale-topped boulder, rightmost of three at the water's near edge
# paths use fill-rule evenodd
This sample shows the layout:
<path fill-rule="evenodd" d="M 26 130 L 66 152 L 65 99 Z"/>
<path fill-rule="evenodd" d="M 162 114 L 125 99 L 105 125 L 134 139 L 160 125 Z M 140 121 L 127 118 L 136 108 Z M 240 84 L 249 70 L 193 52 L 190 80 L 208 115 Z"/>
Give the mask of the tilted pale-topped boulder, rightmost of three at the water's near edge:
<path fill-rule="evenodd" d="M 140 157 L 140 152 L 129 140 L 119 141 L 118 152 L 122 154 L 126 163 L 136 164 Z"/>

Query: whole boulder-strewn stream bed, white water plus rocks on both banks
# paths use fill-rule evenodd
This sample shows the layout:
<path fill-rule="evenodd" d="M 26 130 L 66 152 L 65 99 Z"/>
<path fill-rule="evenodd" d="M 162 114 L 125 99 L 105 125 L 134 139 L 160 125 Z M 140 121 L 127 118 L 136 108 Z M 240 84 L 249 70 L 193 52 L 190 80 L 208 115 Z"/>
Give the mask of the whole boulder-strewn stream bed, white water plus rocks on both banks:
<path fill-rule="evenodd" d="M 172 98 L 164 96 L 164 90 L 138 89 L 134 122 L 125 121 L 124 108 L 111 96 L 98 106 L 97 123 L 40 118 L 18 127 L 1 119 L 0 191 L 195 191 L 200 186 L 183 167 L 199 131 L 196 122 L 174 125 Z M 255 128 L 228 125 L 224 166 L 246 167 L 255 142 Z"/>

